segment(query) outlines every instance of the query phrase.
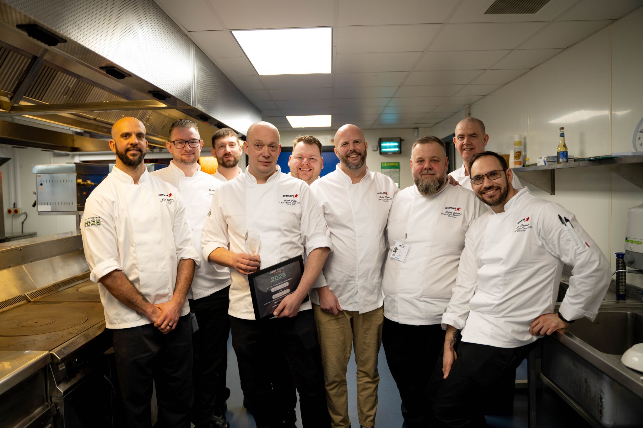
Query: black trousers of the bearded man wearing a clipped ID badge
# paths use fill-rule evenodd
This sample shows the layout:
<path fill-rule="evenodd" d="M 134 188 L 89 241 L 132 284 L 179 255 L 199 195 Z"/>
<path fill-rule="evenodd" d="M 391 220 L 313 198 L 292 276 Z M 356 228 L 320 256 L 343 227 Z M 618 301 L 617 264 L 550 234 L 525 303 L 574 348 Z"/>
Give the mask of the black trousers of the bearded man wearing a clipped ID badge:
<path fill-rule="evenodd" d="M 406 325 L 384 318 L 382 344 L 402 398 L 402 428 L 426 428 L 424 391 L 444 346 L 440 324 Z"/>

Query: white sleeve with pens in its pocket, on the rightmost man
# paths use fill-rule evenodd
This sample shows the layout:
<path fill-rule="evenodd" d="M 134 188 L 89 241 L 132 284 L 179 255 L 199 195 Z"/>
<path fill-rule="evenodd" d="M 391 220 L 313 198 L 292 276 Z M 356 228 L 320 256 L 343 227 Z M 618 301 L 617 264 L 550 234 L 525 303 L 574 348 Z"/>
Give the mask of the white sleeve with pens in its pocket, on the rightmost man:
<path fill-rule="evenodd" d="M 563 220 L 565 225 L 559 216 L 568 220 Z M 559 311 L 566 320 L 584 316 L 593 321 L 610 285 L 610 263 L 574 214 L 557 203 L 543 207 L 537 224 L 547 251 L 573 266 L 569 289 Z"/>

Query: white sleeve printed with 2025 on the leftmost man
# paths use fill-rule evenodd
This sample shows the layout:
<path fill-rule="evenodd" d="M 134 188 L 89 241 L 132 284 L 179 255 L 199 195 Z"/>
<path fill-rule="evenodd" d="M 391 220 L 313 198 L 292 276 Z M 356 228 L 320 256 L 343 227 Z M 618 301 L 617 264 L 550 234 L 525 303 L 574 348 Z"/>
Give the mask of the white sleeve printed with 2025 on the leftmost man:
<path fill-rule="evenodd" d="M 100 196 L 87 198 L 85 211 L 80 220 L 80 234 L 89 266 L 89 279 L 100 278 L 114 270 L 123 270 L 118 261 L 118 238 L 114 228 L 114 208 Z"/>

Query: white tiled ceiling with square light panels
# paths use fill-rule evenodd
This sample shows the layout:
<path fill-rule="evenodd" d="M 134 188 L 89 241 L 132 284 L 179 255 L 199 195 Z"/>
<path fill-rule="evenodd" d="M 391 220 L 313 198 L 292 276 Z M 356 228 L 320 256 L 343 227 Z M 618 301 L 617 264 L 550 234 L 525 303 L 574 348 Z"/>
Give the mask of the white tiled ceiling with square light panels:
<path fill-rule="evenodd" d="M 643 6 L 551 0 L 484 15 L 493 0 L 155 1 L 282 130 L 285 116 L 311 114 L 332 114 L 335 129 L 432 126 Z M 320 26 L 333 28 L 331 74 L 258 76 L 230 33 Z"/>

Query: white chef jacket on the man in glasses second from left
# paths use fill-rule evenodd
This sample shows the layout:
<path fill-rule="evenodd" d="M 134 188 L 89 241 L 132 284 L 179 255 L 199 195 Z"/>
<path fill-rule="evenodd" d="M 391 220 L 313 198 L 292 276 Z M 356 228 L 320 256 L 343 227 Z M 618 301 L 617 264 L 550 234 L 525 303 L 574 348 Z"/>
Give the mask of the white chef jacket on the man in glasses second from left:
<path fill-rule="evenodd" d="M 200 250 L 201 229 L 203 229 L 205 219 L 208 218 L 208 212 L 212 205 L 212 196 L 223 183 L 212 175 L 201 171 L 201 165 L 196 165 L 197 172 L 191 177 L 186 177 L 181 168 L 174 164 L 174 160 L 170 161 L 170 166 L 157 169 L 152 175 L 173 185 L 181 194 L 192 226 L 192 243 L 194 248 L 199 248 Z M 201 254 L 201 251 L 199 251 L 199 254 Z M 201 254 L 201 267 L 194 272 L 194 279 L 192 280 L 192 287 L 188 291 L 188 298 L 206 297 L 229 285 L 230 268 L 210 264 L 203 259 L 203 254 Z"/>

